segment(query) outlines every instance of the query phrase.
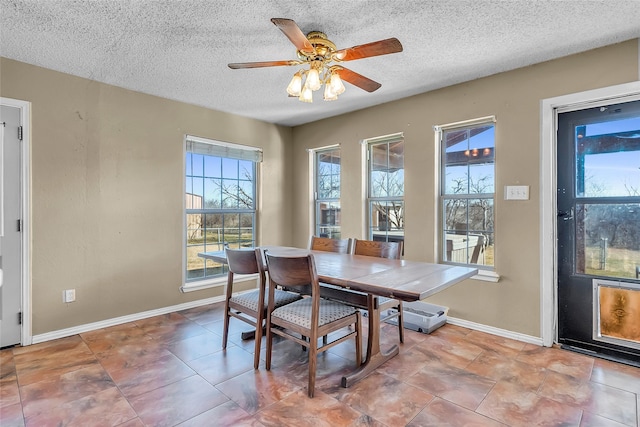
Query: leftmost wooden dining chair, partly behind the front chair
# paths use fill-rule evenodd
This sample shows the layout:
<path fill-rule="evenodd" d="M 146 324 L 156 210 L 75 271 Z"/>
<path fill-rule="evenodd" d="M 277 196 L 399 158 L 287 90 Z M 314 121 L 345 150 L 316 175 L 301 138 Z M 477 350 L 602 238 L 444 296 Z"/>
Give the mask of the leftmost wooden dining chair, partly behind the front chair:
<path fill-rule="evenodd" d="M 222 348 L 227 348 L 229 336 L 229 319 L 235 317 L 256 328 L 255 352 L 253 355 L 253 367 L 258 369 L 260 365 L 260 346 L 262 344 L 262 330 L 265 324 L 267 311 L 266 275 L 264 271 L 263 256 L 259 248 L 255 250 L 229 249 L 227 255 L 227 289 L 224 305 L 224 326 L 222 333 Z M 258 274 L 258 289 L 233 294 L 233 279 L 236 274 Z M 275 289 L 273 292 L 274 307 L 280 307 L 300 299 L 300 294 Z"/>

